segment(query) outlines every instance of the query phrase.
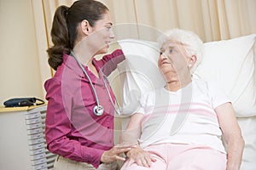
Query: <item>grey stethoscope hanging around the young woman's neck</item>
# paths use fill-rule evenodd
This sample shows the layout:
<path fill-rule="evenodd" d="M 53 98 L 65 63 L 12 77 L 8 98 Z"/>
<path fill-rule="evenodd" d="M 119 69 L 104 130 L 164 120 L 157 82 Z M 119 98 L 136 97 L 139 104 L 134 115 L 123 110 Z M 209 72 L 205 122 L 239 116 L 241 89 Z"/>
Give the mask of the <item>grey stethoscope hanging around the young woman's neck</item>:
<path fill-rule="evenodd" d="M 80 68 L 82 69 L 82 71 L 84 72 L 85 77 L 87 77 L 88 81 L 90 82 L 90 88 L 92 89 L 92 92 L 93 92 L 94 97 L 95 97 L 95 99 L 96 99 L 96 105 L 95 105 L 94 108 L 93 108 L 93 113 L 94 113 L 96 116 L 102 116 L 102 114 L 104 113 L 104 108 L 103 108 L 102 105 L 100 105 L 100 101 L 99 101 L 98 96 L 97 96 L 97 94 L 96 94 L 96 89 L 94 88 L 94 86 L 93 86 L 93 84 L 92 84 L 92 82 L 91 82 L 91 80 L 90 80 L 89 75 L 88 75 L 87 72 L 84 70 L 83 65 L 79 62 L 79 59 L 77 59 L 77 57 L 76 57 L 76 55 L 73 53 L 73 51 L 71 51 L 71 55 L 73 56 L 74 59 L 76 59 L 77 63 L 79 64 L 79 67 L 80 67 Z M 109 92 L 109 90 L 108 90 L 108 87 L 107 87 L 107 85 L 106 85 L 106 84 L 107 84 L 106 80 L 108 81 L 108 77 L 103 73 L 103 71 L 102 71 L 101 68 L 99 68 L 99 71 L 100 71 L 101 74 L 102 74 L 102 79 L 103 79 L 104 87 L 107 89 L 108 97 L 109 97 L 109 99 L 110 99 L 110 101 L 111 101 L 111 104 L 113 105 L 114 111 L 120 116 L 122 110 L 121 110 L 121 107 L 120 107 L 120 105 L 119 105 L 119 102 L 118 102 L 118 100 L 116 99 L 115 95 L 113 94 L 113 97 L 114 97 L 114 99 L 115 99 L 115 101 L 116 101 L 116 104 L 118 105 L 118 109 L 117 109 L 117 108 L 115 107 L 114 103 L 113 103 L 113 99 L 112 99 L 112 97 L 111 97 L 111 95 L 110 95 L 110 92 Z M 109 82 L 108 82 L 108 84 L 109 84 Z M 111 88 L 110 84 L 109 84 L 109 88 Z"/>

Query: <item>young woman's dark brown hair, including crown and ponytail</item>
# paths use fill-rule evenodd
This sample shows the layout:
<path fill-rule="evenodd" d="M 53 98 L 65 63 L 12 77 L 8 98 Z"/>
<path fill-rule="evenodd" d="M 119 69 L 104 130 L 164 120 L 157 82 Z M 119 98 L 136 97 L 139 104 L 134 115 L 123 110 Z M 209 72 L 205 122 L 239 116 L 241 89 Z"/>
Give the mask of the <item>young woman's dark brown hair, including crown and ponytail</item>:
<path fill-rule="evenodd" d="M 78 38 L 77 28 L 82 20 L 88 20 L 90 26 L 95 26 L 96 21 L 101 20 L 107 12 L 108 8 L 95 0 L 79 0 L 70 8 L 57 8 L 50 32 L 54 46 L 47 50 L 49 65 L 57 70 L 63 61 L 63 53 L 70 54 Z"/>

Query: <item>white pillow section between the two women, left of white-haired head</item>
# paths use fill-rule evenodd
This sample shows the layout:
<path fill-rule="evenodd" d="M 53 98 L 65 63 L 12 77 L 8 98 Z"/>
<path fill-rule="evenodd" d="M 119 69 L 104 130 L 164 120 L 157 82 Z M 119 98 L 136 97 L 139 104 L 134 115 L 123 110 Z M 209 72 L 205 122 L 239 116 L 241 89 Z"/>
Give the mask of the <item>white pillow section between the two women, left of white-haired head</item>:
<path fill-rule="evenodd" d="M 157 60 L 159 48 L 156 42 L 136 39 L 119 41 L 119 46 L 125 54 L 125 61 L 118 65 L 124 114 L 137 111 L 139 99 L 149 90 L 163 87 L 164 77 L 161 75 Z"/>

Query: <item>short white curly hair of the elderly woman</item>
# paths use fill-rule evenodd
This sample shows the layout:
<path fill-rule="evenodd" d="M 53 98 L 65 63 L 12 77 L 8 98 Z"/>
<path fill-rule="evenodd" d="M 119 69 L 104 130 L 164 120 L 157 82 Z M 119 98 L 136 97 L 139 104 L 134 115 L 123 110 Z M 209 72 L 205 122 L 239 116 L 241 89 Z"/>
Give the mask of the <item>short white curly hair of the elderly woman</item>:
<path fill-rule="evenodd" d="M 157 42 L 159 47 L 161 48 L 169 40 L 183 44 L 189 55 L 196 56 L 197 60 L 191 69 L 191 73 L 193 73 L 202 60 L 201 52 L 203 48 L 203 42 L 201 41 L 201 38 L 198 37 L 198 35 L 196 35 L 193 31 L 174 28 L 164 32 L 164 34 L 158 38 Z"/>

